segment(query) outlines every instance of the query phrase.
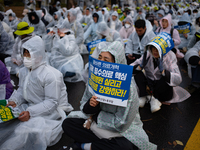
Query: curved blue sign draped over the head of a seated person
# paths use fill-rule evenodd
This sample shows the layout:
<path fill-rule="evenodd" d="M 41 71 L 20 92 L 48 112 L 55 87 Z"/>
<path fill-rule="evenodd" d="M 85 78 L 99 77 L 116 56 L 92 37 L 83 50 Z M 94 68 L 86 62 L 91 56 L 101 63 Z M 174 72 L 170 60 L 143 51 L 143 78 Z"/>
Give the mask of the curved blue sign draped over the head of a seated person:
<path fill-rule="evenodd" d="M 162 55 L 165 56 L 172 48 L 174 48 L 174 42 L 170 34 L 162 32 L 158 34 L 151 42 L 152 45 L 158 45 L 162 50 Z"/>

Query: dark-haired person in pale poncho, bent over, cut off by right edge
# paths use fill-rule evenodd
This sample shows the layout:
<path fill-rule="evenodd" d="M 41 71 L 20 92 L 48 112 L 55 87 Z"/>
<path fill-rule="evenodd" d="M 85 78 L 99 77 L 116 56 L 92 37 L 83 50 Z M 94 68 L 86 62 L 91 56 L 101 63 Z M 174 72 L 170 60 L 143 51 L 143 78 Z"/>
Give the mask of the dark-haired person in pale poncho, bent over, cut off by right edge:
<path fill-rule="evenodd" d="M 192 79 L 188 87 L 190 93 L 200 88 L 200 42 L 198 41 L 185 54 L 185 61 L 188 64 L 188 76 Z"/>

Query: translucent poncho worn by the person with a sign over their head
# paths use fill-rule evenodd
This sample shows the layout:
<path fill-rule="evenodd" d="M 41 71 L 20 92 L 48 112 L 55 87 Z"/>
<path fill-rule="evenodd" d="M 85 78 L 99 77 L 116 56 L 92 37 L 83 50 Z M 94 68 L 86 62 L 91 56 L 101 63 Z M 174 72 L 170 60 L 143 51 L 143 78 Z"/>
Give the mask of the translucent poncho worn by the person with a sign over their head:
<path fill-rule="evenodd" d="M 159 46 L 159 44 L 154 42 L 148 43 L 148 45 L 145 47 L 145 50 L 148 50 L 146 57 L 149 57 L 149 60 L 144 67 L 146 77 L 151 79 L 152 81 L 155 81 L 160 80 L 163 76 L 158 67 L 154 68 L 153 55 L 151 53 L 150 46 L 154 46 L 157 48 L 159 56 L 163 59 L 163 69 L 167 70 L 170 73 L 170 81 L 169 83 L 167 82 L 167 84 L 173 87 L 173 97 L 171 100 L 167 101 L 167 103 L 178 103 L 188 99 L 190 97 L 190 93 L 179 86 L 182 82 L 182 77 L 179 67 L 177 65 L 176 55 L 174 54 L 174 52 L 169 51 L 166 55 L 163 56 L 161 47 Z M 139 59 L 137 59 L 130 65 L 140 65 L 142 63 L 143 56 L 144 55 L 142 55 Z"/>

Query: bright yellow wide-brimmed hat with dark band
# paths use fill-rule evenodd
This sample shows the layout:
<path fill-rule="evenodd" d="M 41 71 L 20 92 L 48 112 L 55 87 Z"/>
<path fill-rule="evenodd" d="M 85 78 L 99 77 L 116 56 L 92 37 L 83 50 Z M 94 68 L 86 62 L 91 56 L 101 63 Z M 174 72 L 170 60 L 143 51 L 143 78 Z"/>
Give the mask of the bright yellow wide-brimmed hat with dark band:
<path fill-rule="evenodd" d="M 20 22 L 17 25 L 16 35 L 30 34 L 34 31 L 34 27 L 30 27 L 27 22 Z"/>

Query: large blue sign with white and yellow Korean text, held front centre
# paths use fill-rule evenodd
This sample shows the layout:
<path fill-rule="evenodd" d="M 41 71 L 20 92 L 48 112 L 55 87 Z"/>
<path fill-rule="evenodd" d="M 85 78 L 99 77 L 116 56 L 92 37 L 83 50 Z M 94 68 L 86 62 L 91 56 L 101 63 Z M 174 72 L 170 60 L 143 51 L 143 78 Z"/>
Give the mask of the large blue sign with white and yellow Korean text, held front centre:
<path fill-rule="evenodd" d="M 133 66 L 100 61 L 89 57 L 89 91 L 97 101 L 127 106 Z"/>

